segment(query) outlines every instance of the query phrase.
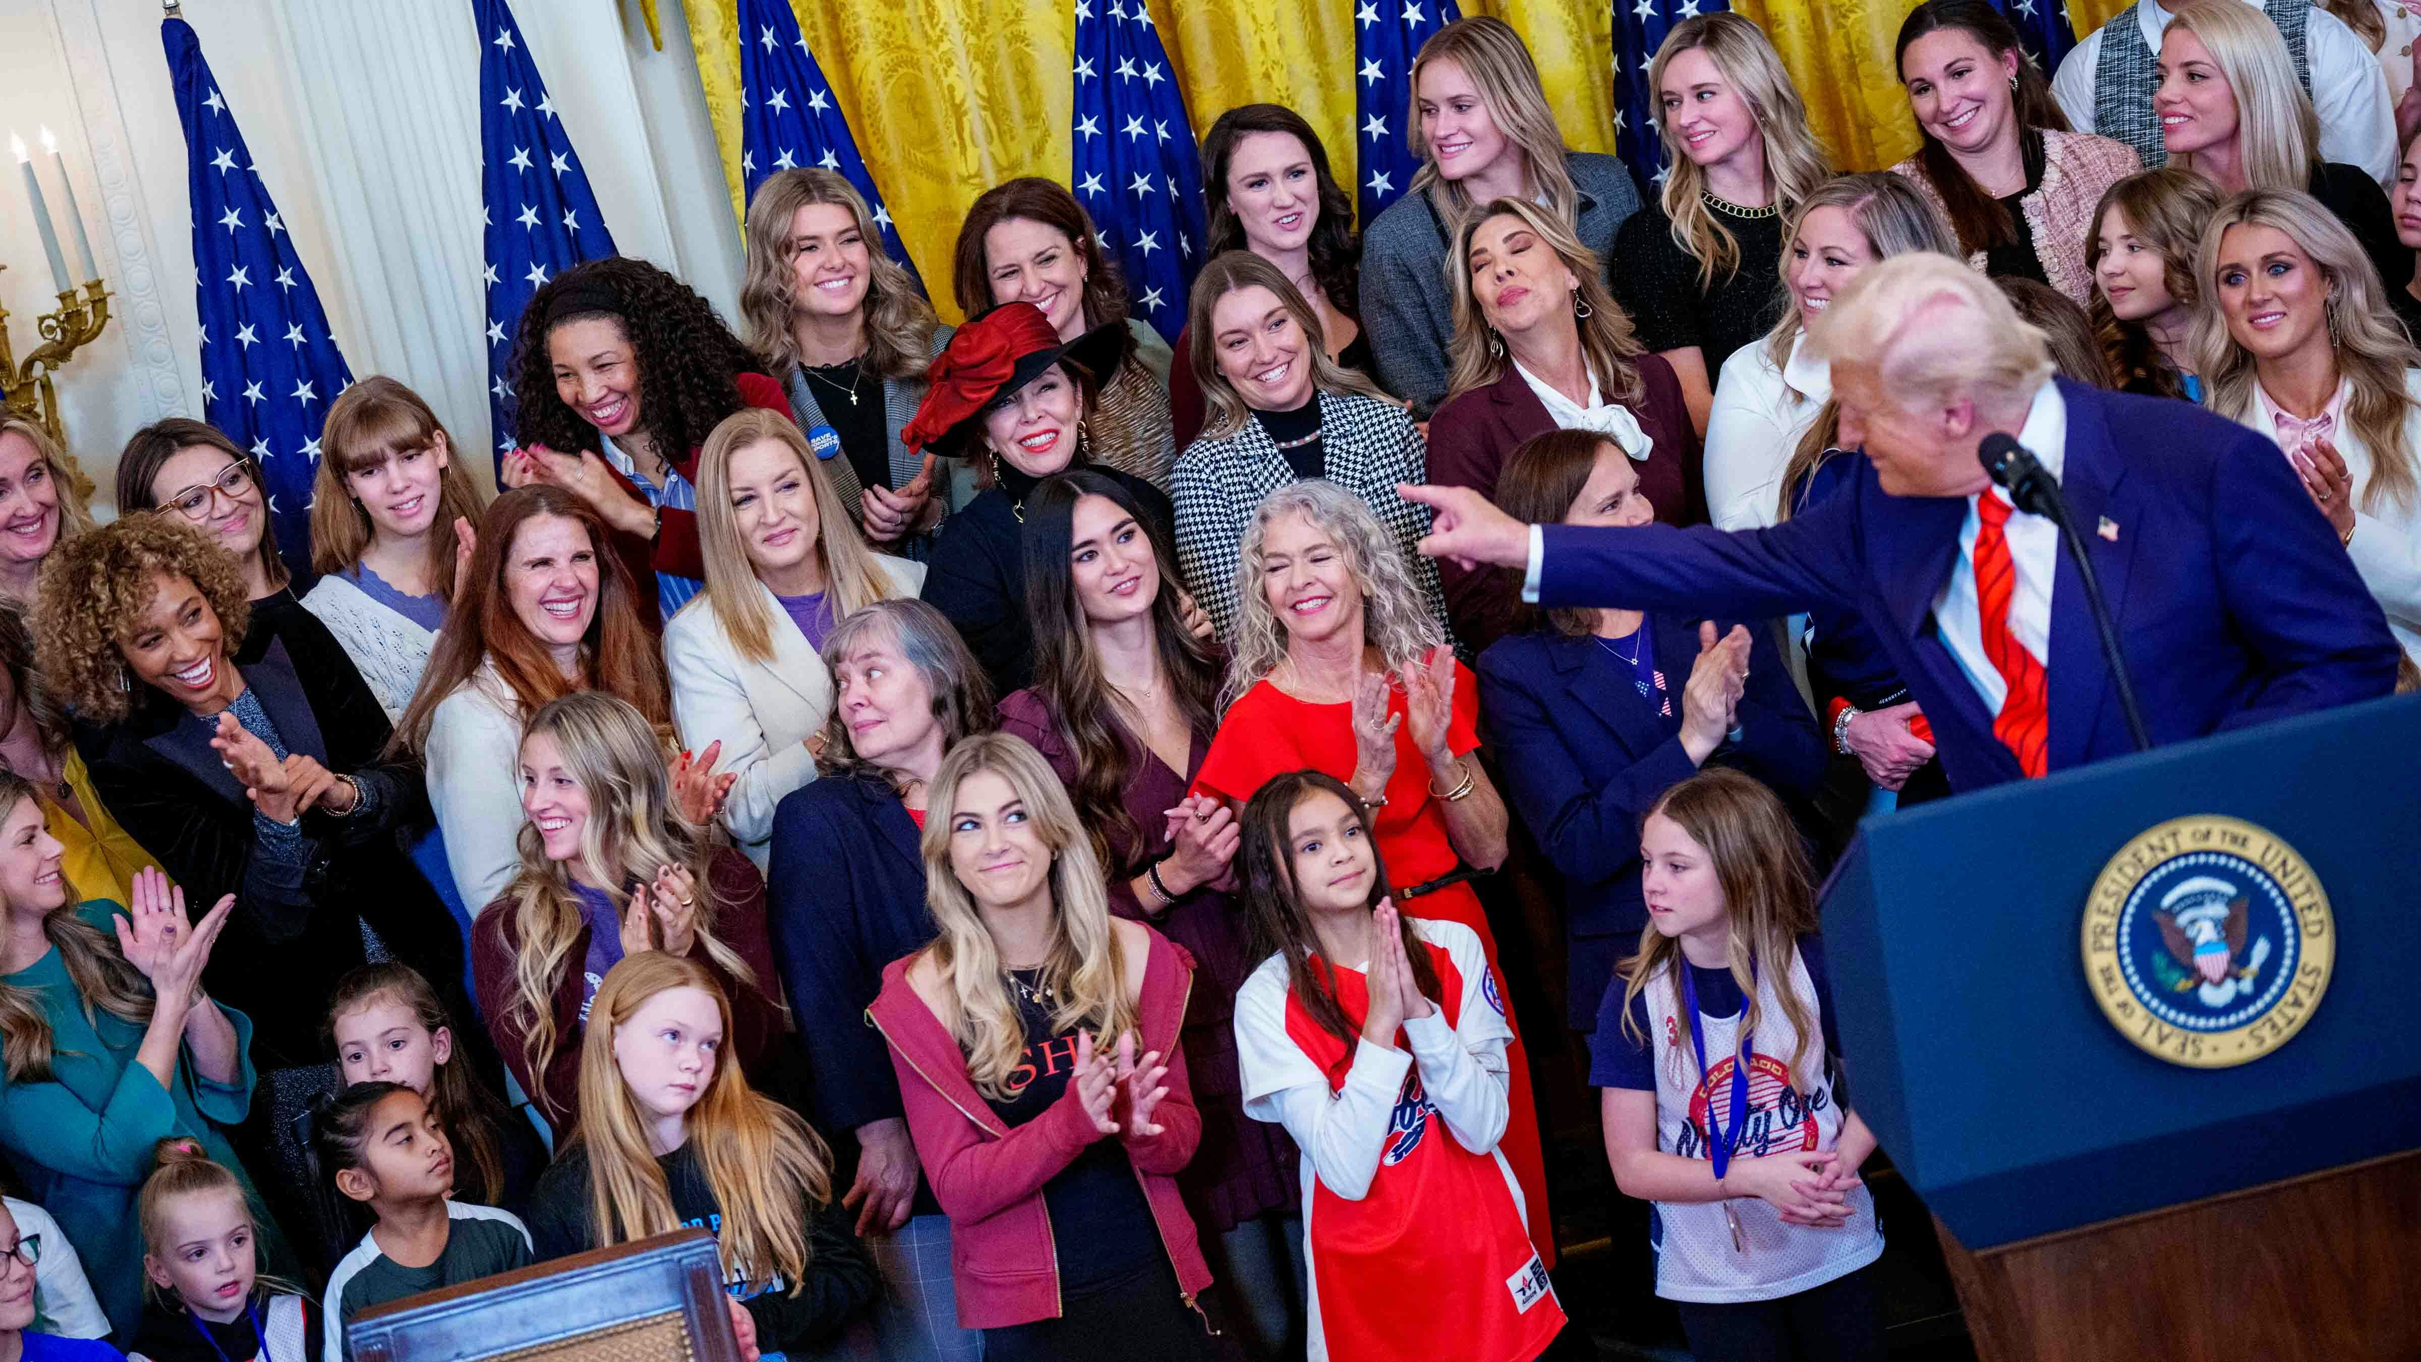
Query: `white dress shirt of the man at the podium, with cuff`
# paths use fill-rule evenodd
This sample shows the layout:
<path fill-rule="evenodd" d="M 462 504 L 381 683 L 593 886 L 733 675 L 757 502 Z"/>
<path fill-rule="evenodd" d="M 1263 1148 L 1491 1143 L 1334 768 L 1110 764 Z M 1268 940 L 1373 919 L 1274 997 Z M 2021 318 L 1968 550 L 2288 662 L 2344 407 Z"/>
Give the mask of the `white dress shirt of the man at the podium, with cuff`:
<path fill-rule="evenodd" d="M 2060 477 L 2068 468 L 2068 397 L 2060 397 L 2058 383 L 2043 383 L 2034 393 L 2034 405 L 2026 407 L 2026 424 L 2019 427 L 2017 443 L 2026 446 L 2026 453 L 2053 477 Z M 2002 504 L 2009 502 L 2009 494 L 2000 487 L 1985 487 L 1980 497 L 2000 497 Z M 1942 645 L 1951 649 L 1951 657 L 1968 674 L 1985 713 L 2000 715 L 2002 700 L 2009 698 L 2009 683 L 2000 679 L 2000 669 L 1983 652 L 1983 606 L 1976 601 L 1976 533 L 1980 528 L 1983 519 L 1976 516 L 1976 497 L 1968 497 L 1968 516 L 1959 526 L 1959 557 L 1951 562 L 1949 582 L 1934 596 L 1934 628 L 1942 633 Z M 2009 567 L 2017 570 L 2017 589 L 2009 594 L 2009 633 L 2017 635 L 2019 647 L 2048 669 L 2051 584 L 2060 570 L 2060 528 L 2043 516 L 2012 509 L 2002 533 L 2009 540 Z M 1520 584 L 1523 601 L 1537 603 L 1537 584 L 1545 565 L 1547 536 L 1540 526 L 1530 526 L 1530 565 Z"/>

